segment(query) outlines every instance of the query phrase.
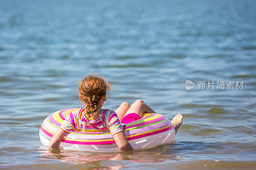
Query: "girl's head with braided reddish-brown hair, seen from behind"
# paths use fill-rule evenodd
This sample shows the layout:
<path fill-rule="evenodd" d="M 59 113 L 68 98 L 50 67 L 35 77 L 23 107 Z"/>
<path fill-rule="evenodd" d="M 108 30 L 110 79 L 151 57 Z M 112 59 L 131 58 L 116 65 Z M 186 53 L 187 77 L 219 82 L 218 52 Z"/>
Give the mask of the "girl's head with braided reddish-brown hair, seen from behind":
<path fill-rule="evenodd" d="M 112 90 L 112 85 L 104 81 L 104 77 L 88 75 L 83 78 L 78 86 L 78 93 L 80 104 L 84 102 L 86 105 L 86 114 L 92 114 L 102 107 L 108 90 Z"/>

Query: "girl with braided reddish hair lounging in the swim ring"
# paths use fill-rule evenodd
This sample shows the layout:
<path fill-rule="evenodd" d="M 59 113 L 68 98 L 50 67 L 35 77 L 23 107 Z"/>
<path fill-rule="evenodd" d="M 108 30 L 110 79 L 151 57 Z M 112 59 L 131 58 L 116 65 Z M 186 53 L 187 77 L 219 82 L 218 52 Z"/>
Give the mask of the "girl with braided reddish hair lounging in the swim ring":
<path fill-rule="evenodd" d="M 142 100 L 136 100 L 132 106 L 124 102 L 115 111 L 102 109 L 108 90 L 112 90 L 112 86 L 109 82 L 105 82 L 104 78 L 97 76 L 84 77 L 78 90 L 80 103 L 84 102 L 86 107 L 74 110 L 66 117 L 53 135 L 49 148 L 59 148 L 63 137 L 72 129 L 76 129 L 78 131 L 110 131 L 120 151 L 133 150 L 124 135 L 125 124 L 140 119 L 143 113 L 156 112 Z M 182 115 L 178 114 L 172 120 L 176 132 L 182 119 Z"/>

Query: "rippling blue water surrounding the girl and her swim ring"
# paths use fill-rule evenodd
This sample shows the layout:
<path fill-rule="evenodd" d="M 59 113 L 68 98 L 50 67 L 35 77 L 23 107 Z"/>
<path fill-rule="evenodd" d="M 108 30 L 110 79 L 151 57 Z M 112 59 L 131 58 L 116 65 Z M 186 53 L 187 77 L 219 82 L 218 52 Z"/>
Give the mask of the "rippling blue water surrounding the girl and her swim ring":
<path fill-rule="evenodd" d="M 255 7 L 253 0 L 0 1 L 1 168 L 254 169 Z M 114 87 L 103 108 L 142 99 L 170 119 L 182 113 L 176 142 L 49 155 L 40 125 L 79 107 L 76 88 L 88 73 Z M 199 90 L 200 80 L 244 84 Z"/>

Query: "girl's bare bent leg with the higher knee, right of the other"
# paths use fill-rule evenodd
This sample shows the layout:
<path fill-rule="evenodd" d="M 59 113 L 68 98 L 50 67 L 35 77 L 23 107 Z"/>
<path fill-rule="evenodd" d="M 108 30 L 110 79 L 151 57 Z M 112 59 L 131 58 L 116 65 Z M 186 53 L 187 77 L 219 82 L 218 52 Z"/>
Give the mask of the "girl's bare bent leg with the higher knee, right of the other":
<path fill-rule="evenodd" d="M 129 113 L 137 113 L 140 118 L 143 113 L 156 113 L 153 109 L 148 107 L 146 103 L 142 100 L 136 100 L 132 106 L 127 110 L 125 115 L 128 115 Z"/>

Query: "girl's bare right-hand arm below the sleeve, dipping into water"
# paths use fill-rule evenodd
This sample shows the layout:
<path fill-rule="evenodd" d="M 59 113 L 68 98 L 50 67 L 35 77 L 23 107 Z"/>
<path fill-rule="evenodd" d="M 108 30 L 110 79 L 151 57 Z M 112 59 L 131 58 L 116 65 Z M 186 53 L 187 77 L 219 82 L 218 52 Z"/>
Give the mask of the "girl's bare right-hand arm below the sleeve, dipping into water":
<path fill-rule="evenodd" d="M 133 150 L 131 144 L 129 144 L 124 135 L 124 131 L 117 132 L 116 134 L 113 135 L 113 137 L 120 151 L 124 152 Z"/>

